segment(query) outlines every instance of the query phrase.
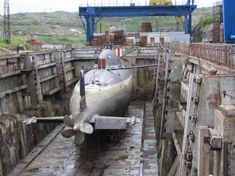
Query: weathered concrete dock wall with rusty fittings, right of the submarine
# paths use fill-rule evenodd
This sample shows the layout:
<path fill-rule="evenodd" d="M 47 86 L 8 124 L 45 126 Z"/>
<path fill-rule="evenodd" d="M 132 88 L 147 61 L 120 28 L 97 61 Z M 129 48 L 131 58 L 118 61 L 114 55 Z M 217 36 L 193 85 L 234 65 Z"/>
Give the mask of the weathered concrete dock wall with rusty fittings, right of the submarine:
<path fill-rule="evenodd" d="M 234 45 L 171 43 L 162 53 L 154 100 L 160 174 L 234 175 Z"/>

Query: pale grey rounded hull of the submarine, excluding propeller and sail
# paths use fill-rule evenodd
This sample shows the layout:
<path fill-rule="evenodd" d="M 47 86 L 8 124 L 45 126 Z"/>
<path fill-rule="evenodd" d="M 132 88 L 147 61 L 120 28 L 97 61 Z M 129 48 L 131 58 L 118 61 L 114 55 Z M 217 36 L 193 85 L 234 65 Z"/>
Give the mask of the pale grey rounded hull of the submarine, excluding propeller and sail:
<path fill-rule="evenodd" d="M 89 80 L 89 74 L 97 72 L 95 70 L 91 73 L 85 74 L 85 80 Z M 76 85 L 73 95 L 70 100 L 71 114 L 75 117 L 77 123 L 89 122 L 94 115 L 100 116 L 123 116 L 128 108 L 131 91 L 132 91 L 132 76 L 129 71 L 122 71 L 121 73 L 110 73 L 107 70 L 97 73 L 102 75 L 102 78 L 112 79 L 111 83 L 105 85 L 94 83 L 85 86 L 86 92 L 86 108 L 80 112 L 80 86 Z M 122 75 L 123 79 L 117 78 L 116 75 Z"/>

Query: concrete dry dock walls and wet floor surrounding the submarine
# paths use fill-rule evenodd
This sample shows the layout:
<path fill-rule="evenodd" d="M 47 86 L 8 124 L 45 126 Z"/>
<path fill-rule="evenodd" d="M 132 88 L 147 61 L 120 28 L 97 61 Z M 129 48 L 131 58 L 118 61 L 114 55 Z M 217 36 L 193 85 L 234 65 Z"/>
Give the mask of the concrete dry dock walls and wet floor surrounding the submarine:
<path fill-rule="evenodd" d="M 66 102 L 79 71 L 92 67 L 100 49 L 2 56 L 0 176 L 14 168 L 23 168 L 22 175 L 83 170 L 84 175 L 234 175 L 234 51 L 234 45 L 197 43 L 124 48 L 122 61 L 128 66 L 158 64 L 132 70 L 133 101 L 140 104 L 130 111 L 137 111 L 142 123 L 123 132 L 119 143 L 93 152 L 85 147 L 92 156 L 85 162 L 73 140 L 47 136 L 59 132 L 57 124 L 26 126 L 23 121 L 68 113 Z"/>

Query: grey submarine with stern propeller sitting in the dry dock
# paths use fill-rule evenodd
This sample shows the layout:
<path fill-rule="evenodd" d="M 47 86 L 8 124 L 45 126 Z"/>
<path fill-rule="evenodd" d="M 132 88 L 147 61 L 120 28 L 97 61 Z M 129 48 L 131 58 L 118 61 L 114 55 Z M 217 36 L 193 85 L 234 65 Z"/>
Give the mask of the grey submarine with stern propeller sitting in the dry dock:
<path fill-rule="evenodd" d="M 90 71 L 80 72 L 80 80 L 70 99 L 71 115 L 64 117 L 66 128 L 62 135 L 66 138 L 75 135 L 76 144 L 81 144 L 84 134 L 93 133 L 92 123 L 97 119 L 103 122 L 101 126 L 114 126 L 120 121 L 118 117 L 125 118 L 131 93 L 132 74 L 111 48 L 104 49 Z"/>

